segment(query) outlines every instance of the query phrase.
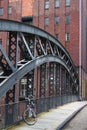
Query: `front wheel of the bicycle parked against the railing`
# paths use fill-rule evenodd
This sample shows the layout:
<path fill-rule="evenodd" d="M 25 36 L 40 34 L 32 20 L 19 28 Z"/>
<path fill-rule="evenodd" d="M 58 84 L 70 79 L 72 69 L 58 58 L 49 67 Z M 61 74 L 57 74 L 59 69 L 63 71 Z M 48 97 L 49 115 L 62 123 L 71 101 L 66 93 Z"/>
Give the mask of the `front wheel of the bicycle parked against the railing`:
<path fill-rule="evenodd" d="M 22 117 L 27 125 L 34 125 L 36 123 L 36 113 L 32 108 L 27 108 Z"/>

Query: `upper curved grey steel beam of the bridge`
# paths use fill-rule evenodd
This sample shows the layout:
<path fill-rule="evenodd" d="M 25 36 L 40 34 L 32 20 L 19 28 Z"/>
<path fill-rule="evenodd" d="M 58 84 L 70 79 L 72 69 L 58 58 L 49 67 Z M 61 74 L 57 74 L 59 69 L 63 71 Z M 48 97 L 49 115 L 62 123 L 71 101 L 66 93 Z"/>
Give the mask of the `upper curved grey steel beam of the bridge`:
<path fill-rule="evenodd" d="M 15 31 L 15 32 L 24 32 L 24 33 L 30 33 L 34 35 L 38 35 L 41 37 L 44 37 L 51 42 L 53 42 L 55 45 L 59 46 L 59 48 L 62 49 L 62 51 L 67 55 L 70 62 L 73 64 L 72 59 L 70 58 L 69 53 L 65 50 L 63 45 L 52 35 L 47 33 L 46 31 L 39 29 L 32 25 L 27 25 L 21 22 L 12 21 L 12 20 L 6 20 L 6 19 L 0 19 L 0 31 Z M 74 65 L 73 65 L 74 67 Z"/>

